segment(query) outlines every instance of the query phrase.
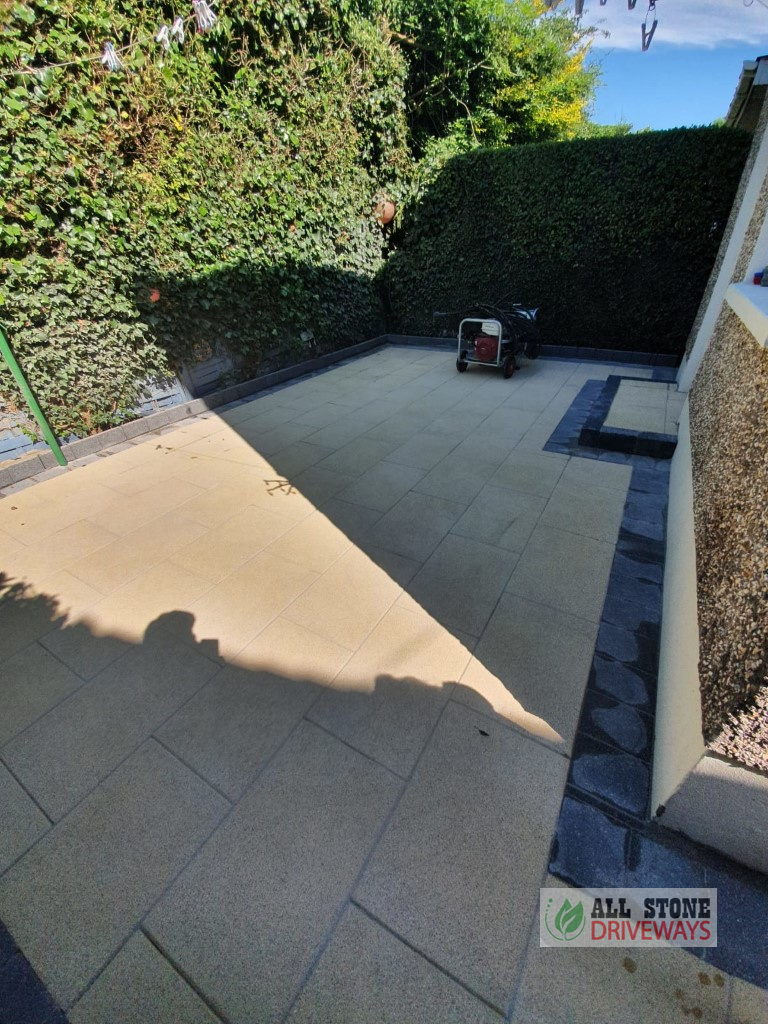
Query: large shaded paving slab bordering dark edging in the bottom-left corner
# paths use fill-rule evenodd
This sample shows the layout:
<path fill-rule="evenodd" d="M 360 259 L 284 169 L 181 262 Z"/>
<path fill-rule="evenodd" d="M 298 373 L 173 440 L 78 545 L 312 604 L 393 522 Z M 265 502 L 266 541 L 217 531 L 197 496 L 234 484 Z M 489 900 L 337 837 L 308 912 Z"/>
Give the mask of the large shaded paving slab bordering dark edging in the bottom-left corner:
<path fill-rule="evenodd" d="M 73 1002 L 228 804 L 148 741 L 0 881 L 0 916 L 63 1006 Z"/>

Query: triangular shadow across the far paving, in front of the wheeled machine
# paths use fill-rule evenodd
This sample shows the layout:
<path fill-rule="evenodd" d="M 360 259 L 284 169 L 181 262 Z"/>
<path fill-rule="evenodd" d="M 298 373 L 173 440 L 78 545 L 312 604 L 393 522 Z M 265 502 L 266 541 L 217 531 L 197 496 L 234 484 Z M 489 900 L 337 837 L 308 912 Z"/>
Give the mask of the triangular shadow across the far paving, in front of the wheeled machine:
<path fill-rule="evenodd" d="M 453 354 L 445 352 L 441 358 L 453 372 Z M 436 396 L 434 381 L 420 394 L 421 382 L 403 378 L 395 396 L 382 393 L 376 397 L 374 381 L 373 397 L 366 386 L 365 396 L 357 400 L 351 387 L 340 399 L 342 404 L 337 406 L 333 397 L 310 400 L 302 414 L 292 406 L 293 385 L 289 384 L 214 415 L 225 431 L 266 464 L 263 470 L 251 467 L 249 479 L 274 499 L 275 511 L 280 508 L 282 514 L 293 502 L 309 503 L 315 515 L 344 535 L 355 552 L 402 588 L 404 597 L 398 606 L 425 612 L 472 652 L 465 675 L 467 703 L 489 710 L 567 753 L 624 498 L 616 502 L 615 495 L 605 496 L 596 488 L 603 509 L 595 518 L 605 519 L 605 537 L 590 536 L 590 529 L 586 537 L 578 537 L 577 527 L 571 535 L 572 551 L 566 547 L 557 552 L 560 566 L 555 572 L 562 573 L 579 549 L 583 564 L 573 570 L 574 593 L 563 595 L 559 603 L 557 597 L 550 599 L 547 574 L 553 559 L 548 556 L 543 559 L 540 585 L 530 585 L 539 552 L 528 551 L 524 564 L 520 564 L 521 554 L 555 492 L 566 459 L 544 455 L 540 449 L 514 451 L 540 418 L 542 409 L 537 402 L 546 394 L 546 406 L 549 397 L 537 372 L 542 366 L 522 362 L 513 381 L 503 381 L 500 371 L 485 367 L 449 378 L 439 388 L 449 392 L 447 400 Z M 321 382 L 322 386 L 323 378 L 319 374 L 297 383 Z M 528 387 L 532 389 L 530 408 L 525 397 L 521 409 L 510 407 L 512 396 Z M 408 403 L 407 394 L 414 396 Z M 264 414 L 261 401 L 265 410 L 266 402 L 270 403 Z M 249 417 L 251 411 L 254 415 Z M 549 435 L 549 421 L 542 430 Z M 196 452 L 196 457 L 205 458 L 204 439 Z M 519 489 L 518 477 L 524 479 Z M 562 505 L 564 493 L 558 490 L 556 497 Z M 269 503 L 254 500 L 260 509 L 269 510 Z M 610 509 L 610 505 L 615 507 Z M 578 508 L 575 514 L 591 513 L 592 509 Z M 562 521 L 567 520 L 564 512 L 559 514 Z M 562 525 L 555 518 L 552 522 Z M 544 543 L 539 535 L 536 541 Z M 591 560 L 594 566 L 588 566 Z M 336 581 L 341 591 L 343 561 Z M 519 587 L 510 586 L 517 568 L 525 580 Z M 350 565 L 346 584 L 352 589 L 353 577 Z M 581 577 L 584 586 L 579 594 Z M 323 635 L 335 636 L 328 626 L 331 614 L 331 607 L 318 602 L 314 608 L 307 607 L 305 615 L 302 612 L 301 621 Z"/>

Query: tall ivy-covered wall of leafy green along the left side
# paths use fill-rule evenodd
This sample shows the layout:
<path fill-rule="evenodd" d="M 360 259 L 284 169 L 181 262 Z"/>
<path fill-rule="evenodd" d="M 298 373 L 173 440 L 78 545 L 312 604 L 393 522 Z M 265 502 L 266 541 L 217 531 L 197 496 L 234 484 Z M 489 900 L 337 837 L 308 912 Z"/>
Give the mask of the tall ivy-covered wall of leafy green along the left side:
<path fill-rule="evenodd" d="M 165 51 L 174 5 L 3 8 L 0 323 L 63 436 L 218 347 L 248 377 L 381 331 L 375 208 L 410 167 L 400 51 L 351 0 L 216 9 Z M 104 39 L 125 71 L 99 62 Z M 0 395 L 20 404 L 4 367 Z"/>

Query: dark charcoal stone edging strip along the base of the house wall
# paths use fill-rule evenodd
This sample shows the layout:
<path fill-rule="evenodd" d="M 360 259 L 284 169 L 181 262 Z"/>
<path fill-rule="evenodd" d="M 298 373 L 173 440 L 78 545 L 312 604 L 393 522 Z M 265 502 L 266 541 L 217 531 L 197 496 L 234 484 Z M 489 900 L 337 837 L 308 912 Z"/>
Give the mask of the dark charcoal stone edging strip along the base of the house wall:
<path fill-rule="evenodd" d="M 649 818 L 670 463 L 580 444 L 602 391 L 588 381 L 545 445 L 632 466 L 549 869 L 581 888 L 717 888 L 718 945 L 689 951 L 768 988 L 768 879 Z"/>

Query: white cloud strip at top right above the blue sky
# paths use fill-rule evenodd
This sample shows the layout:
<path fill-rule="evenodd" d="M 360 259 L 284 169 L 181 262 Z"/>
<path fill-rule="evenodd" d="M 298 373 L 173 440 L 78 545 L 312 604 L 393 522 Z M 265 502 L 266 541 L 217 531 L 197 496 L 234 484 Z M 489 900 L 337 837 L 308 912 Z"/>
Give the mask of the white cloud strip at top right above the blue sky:
<path fill-rule="evenodd" d="M 766 0 L 768 3 L 768 0 Z M 607 39 L 596 37 L 600 49 L 639 49 L 640 27 L 648 11 L 648 0 L 637 0 L 628 10 L 627 0 L 586 0 L 584 24 L 607 30 Z M 657 0 L 658 27 L 653 46 L 701 46 L 713 49 L 734 43 L 749 44 L 755 56 L 768 51 L 768 8 L 760 0 L 745 6 L 743 0 Z M 653 20 L 648 19 L 648 28 Z"/>

